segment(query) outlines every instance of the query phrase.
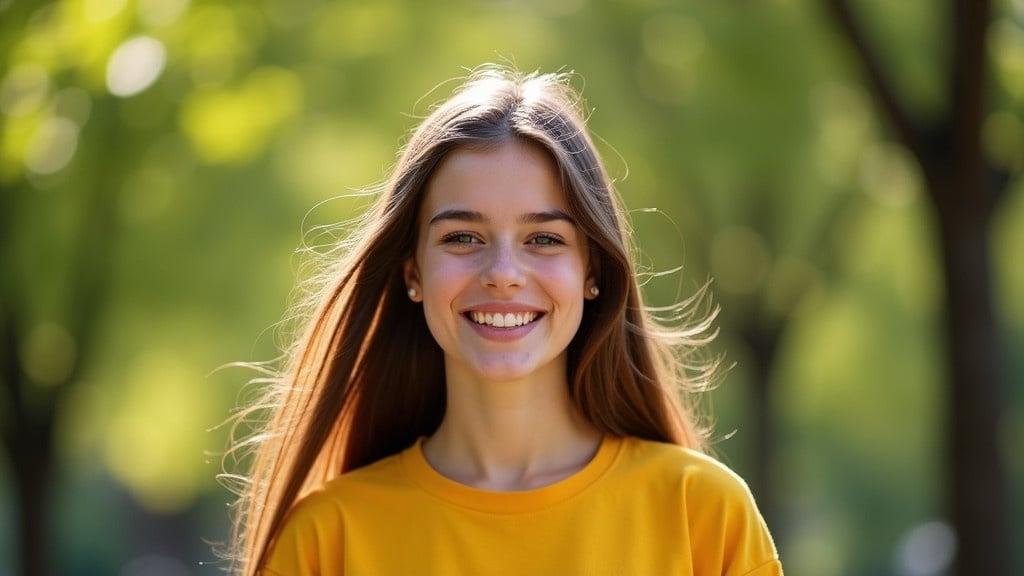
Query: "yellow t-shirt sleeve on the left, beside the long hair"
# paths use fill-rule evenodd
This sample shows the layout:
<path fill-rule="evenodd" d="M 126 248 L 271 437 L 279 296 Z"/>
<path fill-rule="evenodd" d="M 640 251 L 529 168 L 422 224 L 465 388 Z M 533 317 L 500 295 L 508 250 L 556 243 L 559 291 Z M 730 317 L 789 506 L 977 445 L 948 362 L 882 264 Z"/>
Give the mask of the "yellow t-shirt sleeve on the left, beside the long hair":
<path fill-rule="evenodd" d="M 286 517 L 261 574 L 342 576 L 343 547 L 340 507 L 324 493 L 313 493 L 296 503 Z"/>

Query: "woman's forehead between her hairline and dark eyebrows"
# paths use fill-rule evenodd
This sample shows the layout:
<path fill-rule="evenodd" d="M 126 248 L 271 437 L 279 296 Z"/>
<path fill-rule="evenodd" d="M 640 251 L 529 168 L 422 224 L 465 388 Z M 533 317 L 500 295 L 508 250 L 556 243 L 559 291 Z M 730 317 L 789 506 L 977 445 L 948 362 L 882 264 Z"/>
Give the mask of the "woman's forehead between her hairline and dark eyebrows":
<path fill-rule="evenodd" d="M 539 145 L 519 140 L 452 151 L 434 170 L 426 192 L 426 217 L 453 206 L 495 215 L 566 209 L 554 159 Z"/>

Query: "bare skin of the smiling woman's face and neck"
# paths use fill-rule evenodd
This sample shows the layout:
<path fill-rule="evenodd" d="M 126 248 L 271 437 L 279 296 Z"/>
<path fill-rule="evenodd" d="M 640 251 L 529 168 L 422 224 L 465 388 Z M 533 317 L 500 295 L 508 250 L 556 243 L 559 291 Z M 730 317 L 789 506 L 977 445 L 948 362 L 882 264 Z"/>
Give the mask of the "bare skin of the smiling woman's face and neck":
<path fill-rule="evenodd" d="M 514 201 L 510 201 L 514 199 Z M 445 218 L 478 212 L 483 221 Z M 571 221 L 524 223 L 568 211 L 557 167 L 538 145 L 459 149 L 435 169 L 419 214 L 407 286 L 444 353 L 447 407 L 424 456 L 442 476 L 487 490 L 527 490 L 593 458 L 601 433 L 568 398 L 566 347 L 594 278 L 586 236 Z M 512 342 L 478 334 L 462 312 L 514 302 L 546 314 Z"/>

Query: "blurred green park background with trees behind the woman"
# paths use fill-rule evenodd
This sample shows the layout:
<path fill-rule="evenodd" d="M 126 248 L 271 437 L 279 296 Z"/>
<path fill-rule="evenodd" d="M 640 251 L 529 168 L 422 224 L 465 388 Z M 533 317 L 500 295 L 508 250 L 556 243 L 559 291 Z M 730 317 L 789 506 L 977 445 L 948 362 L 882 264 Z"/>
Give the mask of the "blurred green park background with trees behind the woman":
<path fill-rule="evenodd" d="M 215 369 L 485 61 L 574 71 L 650 303 L 714 279 L 787 575 L 1024 574 L 1024 0 L 0 0 L 0 574 L 220 573 Z"/>

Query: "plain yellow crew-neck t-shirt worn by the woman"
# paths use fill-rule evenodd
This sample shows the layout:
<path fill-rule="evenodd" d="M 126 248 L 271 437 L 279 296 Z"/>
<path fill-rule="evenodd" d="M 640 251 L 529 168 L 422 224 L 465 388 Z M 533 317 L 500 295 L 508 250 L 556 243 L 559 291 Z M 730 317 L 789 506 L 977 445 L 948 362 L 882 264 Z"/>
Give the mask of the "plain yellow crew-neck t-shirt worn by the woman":
<path fill-rule="evenodd" d="M 441 476 L 423 440 L 299 500 L 264 574 L 782 574 L 746 484 L 699 452 L 605 436 L 572 476 L 501 492 Z"/>

